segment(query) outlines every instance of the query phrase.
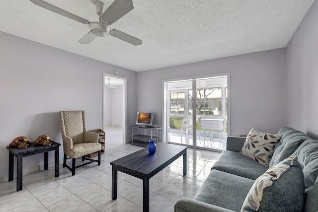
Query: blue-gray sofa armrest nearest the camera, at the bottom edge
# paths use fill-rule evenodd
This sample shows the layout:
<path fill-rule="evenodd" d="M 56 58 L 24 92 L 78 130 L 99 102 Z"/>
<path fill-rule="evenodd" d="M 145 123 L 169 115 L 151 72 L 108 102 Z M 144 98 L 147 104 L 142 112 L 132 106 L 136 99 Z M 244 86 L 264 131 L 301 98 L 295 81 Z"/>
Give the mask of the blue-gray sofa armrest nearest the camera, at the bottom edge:
<path fill-rule="evenodd" d="M 174 212 L 233 212 L 218 206 L 189 198 L 180 198 L 174 205 Z"/>

